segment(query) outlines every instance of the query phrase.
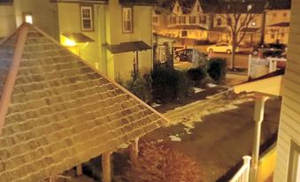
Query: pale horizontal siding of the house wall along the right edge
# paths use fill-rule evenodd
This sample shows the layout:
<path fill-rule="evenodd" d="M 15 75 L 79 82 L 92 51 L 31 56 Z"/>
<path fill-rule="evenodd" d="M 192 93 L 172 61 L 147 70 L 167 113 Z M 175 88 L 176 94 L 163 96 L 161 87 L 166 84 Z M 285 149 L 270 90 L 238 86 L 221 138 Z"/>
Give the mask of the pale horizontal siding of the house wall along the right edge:
<path fill-rule="evenodd" d="M 291 140 L 300 145 L 300 0 L 293 0 L 274 181 L 288 181 Z"/>

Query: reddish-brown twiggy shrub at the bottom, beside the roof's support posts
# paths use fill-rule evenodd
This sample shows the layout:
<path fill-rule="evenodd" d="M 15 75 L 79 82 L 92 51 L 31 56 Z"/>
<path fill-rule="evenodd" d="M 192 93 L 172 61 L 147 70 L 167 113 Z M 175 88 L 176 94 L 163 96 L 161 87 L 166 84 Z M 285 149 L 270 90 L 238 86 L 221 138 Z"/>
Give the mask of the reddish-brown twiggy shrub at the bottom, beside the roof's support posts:
<path fill-rule="evenodd" d="M 199 165 L 164 143 L 142 142 L 138 164 L 127 173 L 128 181 L 201 182 Z"/>

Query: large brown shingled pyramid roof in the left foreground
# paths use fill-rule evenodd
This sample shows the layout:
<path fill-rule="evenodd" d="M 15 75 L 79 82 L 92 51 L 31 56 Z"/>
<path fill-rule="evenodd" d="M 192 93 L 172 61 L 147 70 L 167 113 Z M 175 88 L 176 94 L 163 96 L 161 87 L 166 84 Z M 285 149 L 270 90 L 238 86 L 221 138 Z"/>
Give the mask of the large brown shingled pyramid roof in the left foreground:
<path fill-rule="evenodd" d="M 0 72 L 0 181 L 41 181 L 167 122 L 28 24 L 1 42 Z"/>

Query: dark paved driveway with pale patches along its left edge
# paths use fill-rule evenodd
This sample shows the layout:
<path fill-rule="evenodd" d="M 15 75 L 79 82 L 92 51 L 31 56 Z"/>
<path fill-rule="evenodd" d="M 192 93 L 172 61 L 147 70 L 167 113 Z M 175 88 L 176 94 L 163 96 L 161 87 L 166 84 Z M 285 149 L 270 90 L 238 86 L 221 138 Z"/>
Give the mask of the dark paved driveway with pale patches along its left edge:
<path fill-rule="evenodd" d="M 219 94 L 165 112 L 171 123 L 149 133 L 199 163 L 204 181 L 220 178 L 251 151 L 254 133 L 253 95 Z M 276 132 L 281 101 L 265 104 L 261 141 Z M 158 110 L 159 111 L 159 110 Z"/>

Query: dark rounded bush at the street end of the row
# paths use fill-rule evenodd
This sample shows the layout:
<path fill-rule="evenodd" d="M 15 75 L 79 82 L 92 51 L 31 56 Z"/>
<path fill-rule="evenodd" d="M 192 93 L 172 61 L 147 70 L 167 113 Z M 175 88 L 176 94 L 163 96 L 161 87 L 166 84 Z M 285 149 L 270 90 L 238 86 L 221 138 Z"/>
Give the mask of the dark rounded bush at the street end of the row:
<path fill-rule="evenodd" d="M 208 74 L 212 80 L 216 81 L 218 84 L 222 83 L 226 79 L 227 72 L 227 62 L 223 58 L 212 58 L 208 65 Z"/>

